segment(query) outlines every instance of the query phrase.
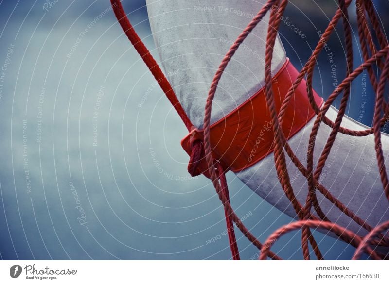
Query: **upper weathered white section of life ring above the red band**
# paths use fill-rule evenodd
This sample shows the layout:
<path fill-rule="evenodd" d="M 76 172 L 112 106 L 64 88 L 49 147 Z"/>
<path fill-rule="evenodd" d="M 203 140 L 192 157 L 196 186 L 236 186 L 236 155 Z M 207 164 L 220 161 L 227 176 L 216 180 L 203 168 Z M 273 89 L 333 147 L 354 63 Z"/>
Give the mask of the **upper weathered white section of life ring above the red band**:
<path fill-rule="evenodd" d="M 236 37 L 264 1 L 146 2 L 165 74 L 191 121 L 201 128 L 212 78 Z M 213 100 L 211 123 L 224 117 L 264 86 L 266 16 L 239 47 L 226 68 Z M 272 62 L 274 73 L 285 59 L 285 51 L 277 39 Z"/>

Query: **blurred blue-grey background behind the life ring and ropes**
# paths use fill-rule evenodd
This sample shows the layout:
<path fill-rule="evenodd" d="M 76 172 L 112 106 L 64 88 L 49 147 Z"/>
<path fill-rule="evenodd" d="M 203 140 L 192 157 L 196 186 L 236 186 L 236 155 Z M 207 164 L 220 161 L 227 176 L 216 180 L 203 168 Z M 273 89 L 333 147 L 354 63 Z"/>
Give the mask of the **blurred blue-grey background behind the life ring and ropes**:
<path fill-rule="evenodd" d="M 305 39 L 281 27 L 298 67 L 336 10 L 336 1 L 309 2 L 293 1 L 286 11 Z M 221 202 L 206 178 L 187 173 L 188 157 L 179 145 L 186 129 L 109 1 L 49 3 L 0 2 L 0 258 L 229 259 Z M 123 5 L 158 60 L 145 2 Z M 388 4 L 379 12 L 388 15 Z M 339 32 L 329 42 L 339 78 L 346 73 L 342 40 Z M 354 55 L 356 66 L 356 40 Z M 325 54 L 314 82 L 324 97 L 334 89 Z M 361 84 L 360 78 L 353 84 L 348 115 L 354 119 Z M 372 108 L 370 101 L 362 118 L 367 125 Z M 245 225 L 261 241 L 291 221 L 233 174 L 227 178 L 232 206 L 238 216 L 248 215 Z M 326 259 L 354 253 L 331 237 L 315 236 Z M 257 258 L 240 232 L 237 238 L 241 258 Z M 274 251 L 301 259 L 300 240 L 299 232 L 288 234 Z"/>

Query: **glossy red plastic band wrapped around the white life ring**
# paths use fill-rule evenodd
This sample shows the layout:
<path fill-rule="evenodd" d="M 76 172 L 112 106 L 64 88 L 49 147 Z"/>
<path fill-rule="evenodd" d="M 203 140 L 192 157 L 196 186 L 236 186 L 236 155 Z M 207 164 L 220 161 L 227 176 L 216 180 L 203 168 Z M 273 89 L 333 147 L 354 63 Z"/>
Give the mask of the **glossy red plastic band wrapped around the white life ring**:
<path fill-rule="evenodd" d="M 289 59 L 273 77 L 273 93 L 277 113 L 281 103 L 299 75 Z M 323 99 L 314 91 L 313 96 L 318 106 Z M 289 139 L 299 132 L 315 116 L 309 104 L 305 80 L 296 88 L 285 111 L 282 130 Z M 244 170 L 265 158 L 273 151 L 273 125 L 266 104 L 265 89 L 262 88 L 250 99 L 230 112 L 226 117 L 211 126 L 212 156 L 224 168 L 233 172 Z M 191 155 L 195 140 L 203 139 L 203 131 L 194 129 L 181 140 L 181 146 Z M 202 158 L 197 173 L 208 174 L 205 158 Z"/>

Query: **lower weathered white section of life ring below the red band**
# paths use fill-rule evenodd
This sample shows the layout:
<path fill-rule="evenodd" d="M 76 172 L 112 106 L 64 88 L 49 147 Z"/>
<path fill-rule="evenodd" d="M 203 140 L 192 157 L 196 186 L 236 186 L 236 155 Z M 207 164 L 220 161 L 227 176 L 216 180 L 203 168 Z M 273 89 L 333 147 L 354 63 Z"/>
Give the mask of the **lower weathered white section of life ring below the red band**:
<path fill-rule="evenodd" d="M 336 114 L 337 110 L 331 108 L 327 116 L 334 121 Z M 289 139 L 290 146 L 299 159 L 304 161 L 304 165 L 306 165 L 306 152 L 313 123 L 314 119 L 303 130 Z M 365 128 L 349 117 L 343 118 L 342 126 L 355 130 Z M 330 131 L 331 128 L 322 123 L 316 138 L 315 161 L 317 161 Z M 386 167 L 388 169 L 389 136 L 387 134 L 382 134 L 382 147 L 386 154 Z M 302 177 L 288 156 L 287 165 L 297 199 L 304 204 L 308 188 L 306 179 Z M 289 216 L 295 217 L 295 211 L 278 181 L 273 154 L 238 173 L 237 176 L 267 202 Z M 389 219 L 388 200 L 384 195 L 378 175 L 374 136 L 351 137 L 341 133 L 337 134 L 334 146 L 323 168 L 320 183 L 329 189 L 333 196 L 342 201 L 359 217 L 367 220 L 372 226 Z M 317 196 L 320 207 L 331 221 L 359 234 L 366 234 L 363 228 L 361 229 L 359 225 L 345 216 L 321 193 L 318 192 Z"/>

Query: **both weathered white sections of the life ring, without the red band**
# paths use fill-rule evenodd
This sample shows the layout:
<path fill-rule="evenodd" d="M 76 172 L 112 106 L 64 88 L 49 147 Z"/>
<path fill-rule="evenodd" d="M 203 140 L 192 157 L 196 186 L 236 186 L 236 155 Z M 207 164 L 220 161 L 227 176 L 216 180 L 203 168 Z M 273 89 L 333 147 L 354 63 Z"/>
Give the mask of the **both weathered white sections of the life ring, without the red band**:
<path fill-rule="evenodd" d="M 250 17 L 239 16 L 234 11 L 254 15 L 261 6 L 262 4 L 251 0 L 147 0 L 151 28 L 162 66 L 178 99 L 197 127 L 201 127 L 203 123 L 205 99 L 214 73 L 232 41 L 250 20 Z M 267 19 L 265 17 L 264 21 Z M 263 86 L 264 41 L 267 31 L 265 22 L 248 36 L 222 76 L 213 102 L 212 122 L 228 114 Z M 255 54 L 259 54 L 258 58 Z M 284 61 L 285 53 L 277 40 L 272 63 L 274 73 Z M 327 115 L 334 118 L 336 113 L 332 108 Z M 289 140 L 292 149 L 303 161 L 306 159 L 313 121 Z M 363 129 L 362 125 L 347 117 L 344 118 L 343 125 Z M 314 152 L 315 160 L 329 133 L 328 126 L 320 127 Z M 389 219 L 389 207 L 378 175 L 373 141 L 372 135 L 355 138 L 338 134 L 320 182 L 354 213 L 375 226 Z M 383 134 L 382 144 L 388 158 L 388 135 Z M 303 204 L 307 195 L 306 180 L 289 159 L 287 163 L 295 194 Z M 388 162 L 386 165 L 389 168 Z M 237 176 L 267 202 L 295 217 L 292 205 L 278 181 L 272 154 Z M 364 229 L 342 214 L 320 193 L 318 200 L 330 220 L 359 234 L 366 234 Z"/>

